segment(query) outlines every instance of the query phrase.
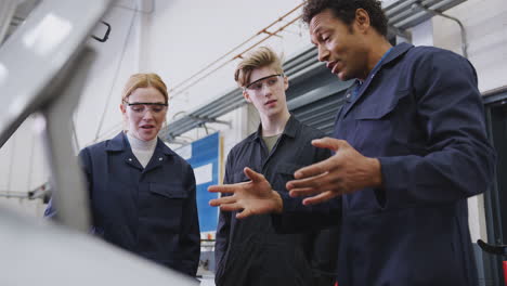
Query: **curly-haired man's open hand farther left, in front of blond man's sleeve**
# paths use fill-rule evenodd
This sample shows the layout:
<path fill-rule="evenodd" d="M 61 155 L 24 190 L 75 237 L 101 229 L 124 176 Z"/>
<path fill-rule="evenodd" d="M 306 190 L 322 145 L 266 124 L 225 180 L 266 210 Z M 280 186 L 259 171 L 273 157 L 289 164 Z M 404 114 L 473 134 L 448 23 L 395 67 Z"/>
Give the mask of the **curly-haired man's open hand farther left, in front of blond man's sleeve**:
<path fill-rule="evenodd" d="M 244 169 L 245 174 L 251 180 L 249 182 L 211 185 L 208 192 L 233 194 L 221 198 L 211 199 L 210 206 L 218 207 L 222 211 L 239 211 L 237 219 L 250 217 L 252 214 L 262 214 L 269 212 L 281 212 L 283 209 L 282 198 L 278 193 L 271 188 L 271 184 L 264 176 L 255 172 L 250 168 Z"/>

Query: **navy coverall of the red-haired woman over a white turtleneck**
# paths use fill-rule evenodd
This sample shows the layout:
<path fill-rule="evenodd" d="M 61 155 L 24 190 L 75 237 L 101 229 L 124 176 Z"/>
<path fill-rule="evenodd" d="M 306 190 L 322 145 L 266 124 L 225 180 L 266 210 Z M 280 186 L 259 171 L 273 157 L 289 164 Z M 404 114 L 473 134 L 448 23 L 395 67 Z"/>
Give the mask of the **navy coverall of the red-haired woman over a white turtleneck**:
<path fill-rule="evenodd" d="M 191 166 L 159 139 L 143 168 L 121 132 L 79 153 L 93 232 L 159 264 L 195 276 L 200 234 Z M 46 214 L 54 213 L 49 205 Z"/>

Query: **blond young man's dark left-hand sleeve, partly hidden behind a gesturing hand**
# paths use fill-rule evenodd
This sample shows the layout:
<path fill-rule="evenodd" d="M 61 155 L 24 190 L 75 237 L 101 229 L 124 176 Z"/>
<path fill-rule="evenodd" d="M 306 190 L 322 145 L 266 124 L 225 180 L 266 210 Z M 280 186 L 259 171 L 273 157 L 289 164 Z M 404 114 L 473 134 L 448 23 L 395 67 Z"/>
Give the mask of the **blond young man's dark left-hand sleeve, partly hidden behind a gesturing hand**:
<path fill-rule="evenodd" d="M 223 178 L 224 184 L 232 183 L 231 172 L 233 166 L 233 156 L 232 152 L 229 153 L 227 161 L 225 166 L 225 176 Z M 214 239 L 214 262 L 217 265 L 217 270 L 221 269 L 223 265 L 223 258 L 225 256 L 225 251 L 229 245 L 229 235 L 231 232 L 231 212 L 230 211 L 220 211 L 219 214 L 219 222 L 217 225 L 217 235 Z"/>

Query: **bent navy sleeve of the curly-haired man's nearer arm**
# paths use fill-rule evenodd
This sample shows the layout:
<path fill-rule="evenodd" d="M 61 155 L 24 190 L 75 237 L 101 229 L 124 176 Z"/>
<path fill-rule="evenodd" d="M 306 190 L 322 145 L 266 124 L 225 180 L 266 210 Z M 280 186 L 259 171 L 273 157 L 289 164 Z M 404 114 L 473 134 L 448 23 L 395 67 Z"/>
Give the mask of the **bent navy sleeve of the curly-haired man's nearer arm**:
<path fill-rule="evenodd" d="M 495 152 L 473 67 L 452 52 L 434 52 L 416 64 L 413 84 L 427 155 L 378 158 L 385 204 L 442 204 L 484 192 Z"/>

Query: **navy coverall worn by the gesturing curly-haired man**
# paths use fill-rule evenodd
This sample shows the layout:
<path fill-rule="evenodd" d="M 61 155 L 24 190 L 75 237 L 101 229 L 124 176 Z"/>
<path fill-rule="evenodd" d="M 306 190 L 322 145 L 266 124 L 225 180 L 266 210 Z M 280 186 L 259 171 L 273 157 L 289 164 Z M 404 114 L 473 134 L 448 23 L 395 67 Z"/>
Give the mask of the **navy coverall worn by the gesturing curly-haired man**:
<path fill-rule="evenodd" d="M 382 187 L 312 207 L 282 194 L 275 225 L 341 222 L 340 286 L 477 285 L 467 198 L 489 187 L 495 152 L 474 68 L 450 51 L 402 43 L 347 99 L 334 136 L 379 159 Z"/>

